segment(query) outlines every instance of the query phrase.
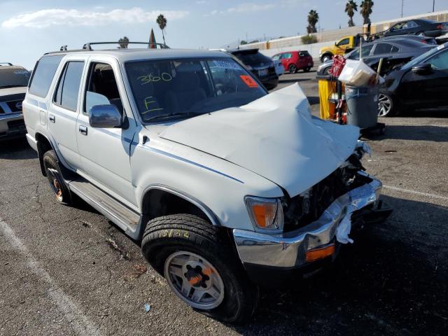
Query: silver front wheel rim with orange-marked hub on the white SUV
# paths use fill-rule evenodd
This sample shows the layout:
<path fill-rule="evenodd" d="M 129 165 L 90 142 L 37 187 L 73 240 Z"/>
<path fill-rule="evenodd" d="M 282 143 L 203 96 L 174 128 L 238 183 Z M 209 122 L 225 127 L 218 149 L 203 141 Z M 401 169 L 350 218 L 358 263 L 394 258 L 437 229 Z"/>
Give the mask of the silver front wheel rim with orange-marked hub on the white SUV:
<path fill-rule="evenodd" d="M 188 251 L 169 255 L 165 279 L 174 293 L 191 307 L 213 309 L 224 300 L 224 282 L 208 260 Z"/>

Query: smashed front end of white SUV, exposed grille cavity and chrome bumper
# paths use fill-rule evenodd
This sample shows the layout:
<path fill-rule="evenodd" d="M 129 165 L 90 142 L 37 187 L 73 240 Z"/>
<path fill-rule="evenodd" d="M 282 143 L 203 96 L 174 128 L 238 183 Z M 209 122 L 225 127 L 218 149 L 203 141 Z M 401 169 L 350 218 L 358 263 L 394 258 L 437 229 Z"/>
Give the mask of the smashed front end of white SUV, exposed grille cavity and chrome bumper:
<path fill-rule="evenodd" d="M 283 200 L 282 233 L 233 230 L 239 258 L 253 281 L 272 283 L 273 270 L 300 269 L 303 274 L 311 265 L 315 270 L 322 261 L 335 258 L 339 244 L 353 242 L 352 227 L 384 221 L 391 214 L 379 200 L 381 182 L 366 174 L 360 162 L 364 153 L 370 154 L 370 148 L 358 141 L 353 154 L 332 174 Z"/>

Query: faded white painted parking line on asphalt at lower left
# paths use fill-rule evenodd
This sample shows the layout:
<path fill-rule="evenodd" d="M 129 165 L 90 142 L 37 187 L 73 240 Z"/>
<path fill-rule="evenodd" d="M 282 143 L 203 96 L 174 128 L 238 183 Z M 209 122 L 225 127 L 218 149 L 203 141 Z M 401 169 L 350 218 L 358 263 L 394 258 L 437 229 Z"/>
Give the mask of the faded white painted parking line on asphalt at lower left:
<path fill-rule="evenodd" d="M 8 223 L 3 221 L 0 218 L 0 229 L 3 232 L 3 235 L 10 244 L 18 250 L 23 258 L 27 261 L 27 267 L 31 269 L 31 272 L 39 276 L 45 283 L 50 286 L 49 290 L 47 290 L 48 295 L 51 300 L 55 302 L 57 307 L 64 313 L 66 320 L 71 324 L 73 330 L 78 335 L 92 335 L 99 336 L 101 335 L 98 331 L 97 326 L 90 321 L 83 309 L 81 309 L 76 302 L 74 302 L 69 295 L 66 295 L 64 291 L 57 286 L 56 282 L 52 279 L 50 274 L 45 271 L 39 264 L 38 261 L 32 258 L 29 253 L 29 250 L 25 244 L 15 235 L 13 229 L 10 228 Z"/>

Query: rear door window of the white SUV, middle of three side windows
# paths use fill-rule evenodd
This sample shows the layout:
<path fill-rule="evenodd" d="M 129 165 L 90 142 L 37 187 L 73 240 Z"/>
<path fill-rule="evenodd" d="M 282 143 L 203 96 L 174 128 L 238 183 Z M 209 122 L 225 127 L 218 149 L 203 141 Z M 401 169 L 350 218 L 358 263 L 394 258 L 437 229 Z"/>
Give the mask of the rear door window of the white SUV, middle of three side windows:
<path fill-rule="evenodd" d="M 76 111 L 78 107 L 78 94 L 83 75 L 84 62 L 67 62 L 62 71 L 55 94 L 55 104 Z"/>

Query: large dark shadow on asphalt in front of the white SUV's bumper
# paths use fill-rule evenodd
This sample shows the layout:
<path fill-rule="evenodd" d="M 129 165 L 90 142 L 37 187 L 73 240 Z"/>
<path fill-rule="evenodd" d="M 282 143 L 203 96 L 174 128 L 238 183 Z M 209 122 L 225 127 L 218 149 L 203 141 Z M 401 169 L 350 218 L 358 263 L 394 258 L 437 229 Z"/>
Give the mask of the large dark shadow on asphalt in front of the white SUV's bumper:
<path fill-rule="evenodd" d="M 448 328 L 448 209 L 383 197 L 395 210 L 343 246 L 332 267 L 262 290 L 244 335 L 440 335 Z M 444 218 L 444 219 L 443 219 Z M 446 231 L 445 231 L 446 232 Z M 366 330 L 369 330 L 366 332 Z"/>

